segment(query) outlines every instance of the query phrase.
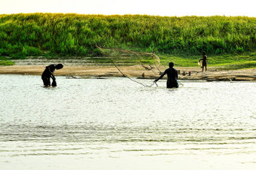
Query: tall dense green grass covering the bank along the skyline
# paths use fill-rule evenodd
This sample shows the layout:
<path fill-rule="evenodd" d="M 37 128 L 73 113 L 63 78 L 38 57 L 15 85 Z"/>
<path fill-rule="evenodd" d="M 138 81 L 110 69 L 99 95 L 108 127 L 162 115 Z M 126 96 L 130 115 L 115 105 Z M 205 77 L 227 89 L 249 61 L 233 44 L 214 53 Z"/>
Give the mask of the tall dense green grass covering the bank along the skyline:
<path fill-rule="evenodd" d="M 255 17 L 2 14 L 0 56 L 98 56 L 96 44 L 162 54 L 255 51 Z"/>

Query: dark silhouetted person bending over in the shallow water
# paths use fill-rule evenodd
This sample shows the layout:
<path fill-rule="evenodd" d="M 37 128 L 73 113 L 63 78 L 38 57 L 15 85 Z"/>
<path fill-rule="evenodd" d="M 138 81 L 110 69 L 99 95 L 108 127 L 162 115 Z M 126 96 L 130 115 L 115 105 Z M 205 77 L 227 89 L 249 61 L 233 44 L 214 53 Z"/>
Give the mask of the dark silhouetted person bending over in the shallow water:
<path fill-rule="evenodd" d="M 53 75 L 53 72 L 55 69 L 59 70 L 63 68 L 62 64 L 57 64 L 57 65 L 48 65 L 45 69 L 43 74 L 41 74 L 41 79 L 44 82 L 44 87 L 50 87 L 50 78 L 53 79 L 52 87 L 56 87 L 56 79 Z"/>

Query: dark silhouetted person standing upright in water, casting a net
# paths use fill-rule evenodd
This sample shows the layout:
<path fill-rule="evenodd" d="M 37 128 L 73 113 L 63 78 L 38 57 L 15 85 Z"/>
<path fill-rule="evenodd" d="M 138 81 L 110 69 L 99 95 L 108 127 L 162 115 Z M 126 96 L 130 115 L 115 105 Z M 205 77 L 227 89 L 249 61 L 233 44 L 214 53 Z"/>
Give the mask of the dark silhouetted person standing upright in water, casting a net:
<path fill-rule="evenodd" d="M 158 80 L 160 80 L 165 74 L 167 74 L 167 82 L 166 82 L 166 87 L 167 88 L 178 88 L 178 71 L 173 68 L 174 63 L 173 62 L 169 62 L 169 68 L 167 68 L 163 74 L 157 78 L 156 80 L 154 80 L 154 82 L 157 82 Z"/>

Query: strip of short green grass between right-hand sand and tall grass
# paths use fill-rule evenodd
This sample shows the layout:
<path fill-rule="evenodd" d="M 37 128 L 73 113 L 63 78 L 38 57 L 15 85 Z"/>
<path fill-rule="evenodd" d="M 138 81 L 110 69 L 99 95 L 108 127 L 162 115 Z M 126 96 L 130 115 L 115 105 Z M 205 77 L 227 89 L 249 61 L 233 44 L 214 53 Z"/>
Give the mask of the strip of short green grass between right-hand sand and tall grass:
<path fill-rule="evenodd" d="M 168 67 L 169 62 L 174 62 L 175 67 L 199 67 L 198 60 L 202 56 L 172 56 L 172 55 L 160 55 L 160 63 L 163 66 Z M 111 57 L 116 65 L 140 65 L 140 61 L 144 64 L 153 65 L 154 62 L 150 57 L 141 56 L 126 56 L 126 57 Z M 96 63 L 105 65 L 112 65 L 111 60 L 107 57 L 90 58 Z M 216 69 L 242 69 L 242 68 L 255 68 L 256 55 L 255 53 L 245 53 L 240 55 L 223 55 L 223 56 L 208 56 L 208 66 Z"/>

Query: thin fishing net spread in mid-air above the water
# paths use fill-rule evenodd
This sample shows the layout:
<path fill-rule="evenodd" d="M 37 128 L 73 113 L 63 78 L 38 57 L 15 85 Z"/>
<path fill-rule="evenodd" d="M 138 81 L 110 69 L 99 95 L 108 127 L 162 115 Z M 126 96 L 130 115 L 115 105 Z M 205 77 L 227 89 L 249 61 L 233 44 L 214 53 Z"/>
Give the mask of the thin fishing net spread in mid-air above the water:
<path fill-rule="evenodd" d="M 109 64 L 115 66 L 123 77 L 127 77 L 145 87 L 152 87 L 154 85 L 154 80 L 152 79 L 156 79 L 162 74 L 160 70 L 163 70 L 163 66 L 160 63 L 160 58 L 154 52 L 145 53 L 96 47 Z"/>

